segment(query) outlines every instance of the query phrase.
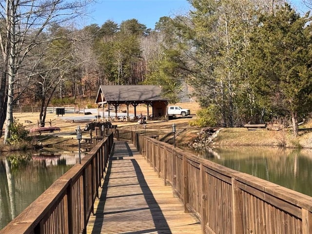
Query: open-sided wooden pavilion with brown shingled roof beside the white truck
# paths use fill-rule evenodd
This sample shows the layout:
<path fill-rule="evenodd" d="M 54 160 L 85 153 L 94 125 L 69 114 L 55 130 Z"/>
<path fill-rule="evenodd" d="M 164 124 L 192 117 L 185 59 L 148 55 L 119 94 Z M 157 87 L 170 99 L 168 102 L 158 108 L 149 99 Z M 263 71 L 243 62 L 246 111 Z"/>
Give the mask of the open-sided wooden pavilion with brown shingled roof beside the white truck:
<path fill-rule="evenodd" d="M 137 105 L 147 106 L 147 116 L 150 116 L 149 107 L 152 107 L 153 117 L 162 117 L 167 114 L 168 100 L 161 95 L 161 88 L 156 85 L 100 85 L 96 103 L 102 108 L 107 105 L 108 116 L 110 109 L 115 109 L 116 117 L 119 105 L 127 106 L 127 117 L 129 117 L 129 105 L 134 107 L 134 114 L 137 117 Z"/>

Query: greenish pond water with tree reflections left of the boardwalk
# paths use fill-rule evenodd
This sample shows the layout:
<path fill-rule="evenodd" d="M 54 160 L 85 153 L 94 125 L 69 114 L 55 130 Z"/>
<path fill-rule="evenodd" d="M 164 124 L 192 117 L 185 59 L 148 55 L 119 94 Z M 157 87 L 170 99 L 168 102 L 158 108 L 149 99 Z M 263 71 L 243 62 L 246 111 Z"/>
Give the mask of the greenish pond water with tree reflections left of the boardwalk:
<path fill-rule="evenodd" d="M 0 229 L 79 161 L 78 152 L 51 150 L 32 152 L 30 160 L 20 164 L 18 158 L 29 153 L 0 156 Z"/>

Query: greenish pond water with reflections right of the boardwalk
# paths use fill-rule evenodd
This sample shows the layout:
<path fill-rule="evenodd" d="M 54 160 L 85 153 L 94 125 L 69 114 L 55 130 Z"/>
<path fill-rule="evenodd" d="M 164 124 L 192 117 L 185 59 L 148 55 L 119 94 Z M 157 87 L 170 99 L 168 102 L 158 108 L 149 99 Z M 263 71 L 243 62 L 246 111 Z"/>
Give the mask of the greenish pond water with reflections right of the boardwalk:
<path fill-rule="evenodd" d="M 312 196 L 311 149 L 231 146 L 192 153 Z"/>

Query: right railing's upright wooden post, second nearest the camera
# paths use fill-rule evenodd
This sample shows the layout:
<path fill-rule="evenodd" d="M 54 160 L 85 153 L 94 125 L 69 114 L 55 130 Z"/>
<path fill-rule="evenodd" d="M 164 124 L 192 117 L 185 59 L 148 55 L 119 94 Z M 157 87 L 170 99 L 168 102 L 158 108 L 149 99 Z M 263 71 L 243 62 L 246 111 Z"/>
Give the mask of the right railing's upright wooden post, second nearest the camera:
<path fill-rule="evenodd" d="M 237 180 L 232 178 L 232 233 L 244 233 L 242 221 L 242 191 L 238 188 Z"/>

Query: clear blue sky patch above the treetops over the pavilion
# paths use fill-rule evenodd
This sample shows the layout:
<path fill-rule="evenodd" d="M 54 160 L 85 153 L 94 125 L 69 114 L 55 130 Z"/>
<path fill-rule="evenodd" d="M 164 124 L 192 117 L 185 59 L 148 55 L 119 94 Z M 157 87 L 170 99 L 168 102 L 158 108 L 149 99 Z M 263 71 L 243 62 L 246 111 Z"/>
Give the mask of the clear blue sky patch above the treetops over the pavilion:
<path fill-rule="evenodd" d="M 99 0 L 92 5 L 91 19 L 86 23 L 101 26 L 106 20 L 119 24 L 123 20 L 137 19 L 147 28 L 154 29 L 160 17 L 174 16 L 189 9 L 187 0 Z"/>

